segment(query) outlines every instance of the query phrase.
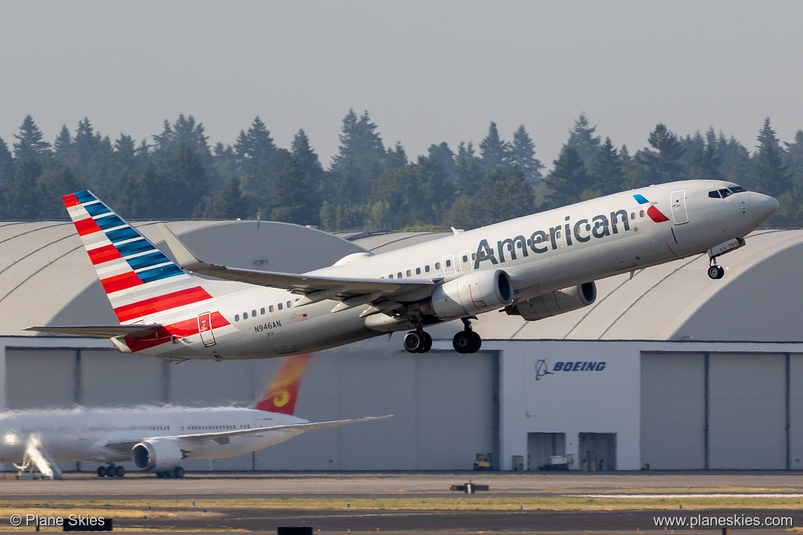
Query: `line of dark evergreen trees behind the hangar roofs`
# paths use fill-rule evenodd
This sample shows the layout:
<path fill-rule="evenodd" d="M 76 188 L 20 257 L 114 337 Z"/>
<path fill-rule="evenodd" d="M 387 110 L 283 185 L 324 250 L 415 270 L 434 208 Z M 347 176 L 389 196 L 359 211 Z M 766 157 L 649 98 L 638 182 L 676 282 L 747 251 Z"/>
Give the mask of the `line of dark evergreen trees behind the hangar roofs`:
<path fill-rule="evenodd" d="M 328 168 L 303 129 L 279 148 L 259 117 L 232 144 L 211 146 L 193 116 L 165 120 L 150 140 L 116 140 L 80 120 L 53 143 L 31 116 L 0 138 L 0 219 L 64 219 L 60 197 L 92 189 L 131 219 L 262 219 L 353 229 L 472 229 L 629 188 L 723 179 L 781 202 L 773 226 L 803 226 L 803 131 L 781 142 L 764 120 L 756 145 L 709 127 L 680 136 L 657 124 L 632 155 L 581 114 L 545 172 L 524 125 L 503 139 L 491 123 L 478 146 L 431 144 L 407 156 L 386 146 L 365 111 L 349 110 Z"/>

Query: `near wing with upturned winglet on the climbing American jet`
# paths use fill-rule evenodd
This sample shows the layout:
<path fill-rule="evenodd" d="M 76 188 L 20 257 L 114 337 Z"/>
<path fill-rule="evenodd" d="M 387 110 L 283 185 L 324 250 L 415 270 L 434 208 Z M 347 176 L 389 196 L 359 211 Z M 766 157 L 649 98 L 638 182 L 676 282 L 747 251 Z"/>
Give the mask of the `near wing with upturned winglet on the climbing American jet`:
<path fill-rule="evenodd" d="M 316 277 L 314 275 L 296 275 L 275 273 L 269 271 L 241 270 L 214 265 L 202 261 L 200 258 L 173 234 L 163 223 L 159 224 L 161 232 L 165 235 L 165 242 L 176 257 L 177 264 L 182 269 L 194 273 L 209 275 L 214 278 L 223 278 L 230 281 L 247 282 L 255 286 L 268 286 L 290 290 L 296 294 L 312 294 L 324 292 L 328 299 L 344 301 L 357 295 L 379 294 L 369 301 L 377 298 L 391 298 L 401 294 L 409 294 L 416 290 L 434 287 L 430 279 L 385 279 L 385 278 L 344 278 L 344 277 Z M 334 291 L 338 290 L 338 291 Z M 366 301 L 367 302 L 367 301 Z"/>

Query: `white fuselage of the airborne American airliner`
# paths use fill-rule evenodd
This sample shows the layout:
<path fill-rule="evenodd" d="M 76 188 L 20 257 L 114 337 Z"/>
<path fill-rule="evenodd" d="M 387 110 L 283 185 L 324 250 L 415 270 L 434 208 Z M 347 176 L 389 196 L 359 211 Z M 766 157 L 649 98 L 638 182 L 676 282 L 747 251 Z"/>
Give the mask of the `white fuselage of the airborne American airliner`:
<path fill-rule="evenodd" d="M 772 198 L 751 192 L 734 193 L 727 198 L 708 195 L 712 190 L 735 185 L 720 180 L 690 180 L 615 193 L 362 257 L 311 274 L 448 282 L 475 270 L 504 270 L 512 278 L 516 299 L 522 301 L 704 253 L 723 241 L 746 236 L 774 212 L 774 208 L 766 209 L 767 200 Z M 648 204 L 640 204 L 636 195 Z M 777 208 L 777 202 L 772 202 Z M 654 221 L 646 213 L 650 206 L 668 220 Z M 382 332 L 410 329 L 409 324 L 368 326 L 360 314 L 369 305 L 339 312 L 332 312 L 337 303 L 331 300 L 288 307 L 288 302 L 292 304 L 300 296 L 232 284 L 237 290 L 214 297 L 215 309 L 229 322 L 212 333 L 214 345 L 208 346 L 210 334 L 206 334 L 206 344 L 194 334 L 137 352 L 176 359 L 255 359 L 320 351 Z M 428 294 L 411 295 L 407 301 L 427 297 Z M 185 307 L 173 310 L 172 317 L 157 319 L 166 324 L 204 311 Z M 427 324 L 451 319 L 455 318 L 428 318 Z M 130 351 L 118 342 L 116 347 Z"/>

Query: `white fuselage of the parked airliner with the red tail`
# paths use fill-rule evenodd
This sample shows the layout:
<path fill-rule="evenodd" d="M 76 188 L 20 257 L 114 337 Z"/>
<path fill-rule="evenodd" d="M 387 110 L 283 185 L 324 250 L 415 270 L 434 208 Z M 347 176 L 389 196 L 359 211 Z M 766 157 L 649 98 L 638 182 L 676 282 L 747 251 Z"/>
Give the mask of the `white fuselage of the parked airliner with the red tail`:
<path fill-rule="evenodd" d="M 0 414 L 0 463 L 22 463 L 34 438 L 56 461 L 117 462 L 131 460 L 130 452 L 107 444 L 163 436 L 264 428 L 307 422 L 296 416 L 247 408 L 133 407 L 126 409 L 53 409 Z M 301 430 L 262 432 L 258 436 L 231 436 L 220 444 L 188 444 L 185 458 L 220 459 L 277 444 Z M 181 444 L 181 441 L 178 441 Z"/>

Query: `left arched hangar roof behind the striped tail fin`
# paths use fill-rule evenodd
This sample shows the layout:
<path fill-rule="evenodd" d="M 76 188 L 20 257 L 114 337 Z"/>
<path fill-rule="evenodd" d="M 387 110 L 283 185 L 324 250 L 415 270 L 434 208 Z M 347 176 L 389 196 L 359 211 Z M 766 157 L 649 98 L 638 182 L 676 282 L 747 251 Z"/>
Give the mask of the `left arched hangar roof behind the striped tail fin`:
<path fill-rule="evenodd" d="M 165 252 L 158 222 L 205 260 L 249 269 L 300 273 L 363 250 L 320 230 L 274 221 L 132 224 Z M 22 330 L 34 325 L 116 324 L 71 222 L 0 222 L 0 247 L 0 334 L 35 335 Z"/>

